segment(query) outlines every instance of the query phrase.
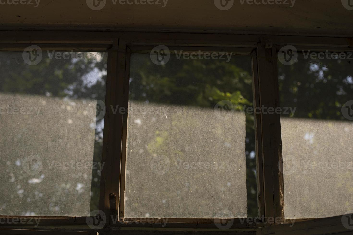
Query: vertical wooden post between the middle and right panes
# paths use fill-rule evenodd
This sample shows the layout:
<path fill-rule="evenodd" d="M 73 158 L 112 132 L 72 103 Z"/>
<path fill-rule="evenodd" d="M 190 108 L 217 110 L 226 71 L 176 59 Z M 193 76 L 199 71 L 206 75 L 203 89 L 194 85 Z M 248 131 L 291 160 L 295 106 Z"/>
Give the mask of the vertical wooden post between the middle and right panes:
<path fill-rule="evenodd" d="M 268 114 L 262 107 L 279 105 L 277 52 L 270 40 L 261 38 L 257 47 L 259 104 L 261 107 L 261 146 L 263 156 L 264 217 L 275 223 L 284 221 L 281 120 L 279 114 Z M 261 184 L 260 184 L 261 186 Z"/>

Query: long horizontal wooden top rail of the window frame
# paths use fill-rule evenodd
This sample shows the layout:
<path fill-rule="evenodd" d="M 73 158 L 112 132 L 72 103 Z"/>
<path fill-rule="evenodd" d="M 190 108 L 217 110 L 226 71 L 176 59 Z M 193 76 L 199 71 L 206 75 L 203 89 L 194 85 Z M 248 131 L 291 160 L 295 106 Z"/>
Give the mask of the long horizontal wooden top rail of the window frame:
<path fill-rule="evenodd" d="M 170 33 L 170 32 L 88 32 L 88 31 L 0 31 L 0 43 L 15 44 L 112 44 L 120 38 L 127 44 L 176 46 L 214 46 L 255 48 L 261 35 L 215 34 L 215 33 Z M 321 36 L 268 35 L 274 44 L 305 47 L 353 47 L 353 38 Z"/>

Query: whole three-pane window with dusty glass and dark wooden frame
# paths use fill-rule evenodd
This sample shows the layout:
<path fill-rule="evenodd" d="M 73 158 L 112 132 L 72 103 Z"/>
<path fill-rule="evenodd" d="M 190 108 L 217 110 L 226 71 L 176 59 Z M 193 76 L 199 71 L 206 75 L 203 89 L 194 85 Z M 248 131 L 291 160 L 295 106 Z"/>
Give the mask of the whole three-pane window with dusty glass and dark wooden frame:
<path fill-rule="evenodd" d="M 1 39 L 0 222 L 251 234 L 352 209 L 351 61 L 276 63 L 346 40 L 45 33 Z"/>

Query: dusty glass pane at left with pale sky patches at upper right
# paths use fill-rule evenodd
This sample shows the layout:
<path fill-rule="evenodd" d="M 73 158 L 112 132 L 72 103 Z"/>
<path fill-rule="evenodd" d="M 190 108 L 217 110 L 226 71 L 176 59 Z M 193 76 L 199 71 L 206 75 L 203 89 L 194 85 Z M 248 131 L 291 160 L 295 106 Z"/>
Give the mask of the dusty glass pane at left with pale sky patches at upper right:
<path fill-rule="evenodd" d="M 104 167 L 107 56 L 38 52 L 0 52 L 0 215 L 86 216 Z"/>

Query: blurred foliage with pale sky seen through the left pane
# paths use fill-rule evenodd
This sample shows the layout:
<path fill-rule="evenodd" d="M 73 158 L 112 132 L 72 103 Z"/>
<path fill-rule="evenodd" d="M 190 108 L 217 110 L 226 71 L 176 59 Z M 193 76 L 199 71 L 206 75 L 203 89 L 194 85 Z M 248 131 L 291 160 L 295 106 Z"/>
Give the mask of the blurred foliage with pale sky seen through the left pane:
<path fill-rule="evenodd" d="M 106 54 L 106 53 L 105 53 Z M 16 93 L 25 95 L 42 95 L 43 97 L 57 97 L 60 99 L 88 99 L 105 100 L 106 93 L 106 67 L 107 56 L 101 53 L 103 59 L 98 61 L 95 57 L 86 59 L 49 59 L 47 52 L 43 51 L 43 59 L 37 65 L 28 65 L 23 61 L 22 52 L 0 52 L 0 92 Z M 92 74 L 96 73 L 96 74 Z M 102 73 L 102 76 L 97 75 Z M 1 118 L 1 117 L 0 117 Z M 103 122 L 98 120 L 96 123 L 95 142 L 93 162 L 101 162 L 102 159 L 102 141 L 103 141 Z M 24 143 L 25 144 L 25 143 Z M 18 156 L 18 158 L 27 156 Z M 49 159 L 50 160 L 50 159 Z M 16 159 L 14 159 L 16 161 Z M 13 164 L 14 162 L 12 162 Z M 3 163 L 6 165 L 6 162 Z M 13 172 L 16 173 L 16 172 Z M 19 176 L 25 177 L 23 176 Z M 30 175 L 27 175 L 30 178 Z M 10 180 L 10 179 L 8 179 Z M 60 181 L 59 181 L 60 182 Z M 16 182 L 14 182 L 16 184 Z M 61 182 L 62 183 L 62 182 Z M 72 182 L 67 190 L 75 191 L 77 182 Z M 54 182 L 53 182 L 54 184 Z M 98 209 L 99 203 L 100 172 L 97 169 L 92 170 L 92 188 L 91 188 L 91 211 Z M 2 188 L 6 192 L 6 197 L 14 198 L 17 190 L 9 187 L 11 190 Z M 14 188 L 14 189 L 13 189 Z M 35 191 L 44 191 L 45 188 L 35 188 Z M 60 190 L 60 188 L 58 188 Z M 86 192 L 88 193 L 88 192 Z M 5 195 L 3 195 L 5 197 Z M 36 202 L 37 196 L 34 191 L 25 191 L 24 198 L 31 202 Z M 48 198 L 47 201 L 55 206 L 63 206 L 63 202 L 69 198 Z M 8 207 L 11 207 L 8 205 Z M 14 214 L 24 213 L 12 208 Z M 42 208 L 36 208 L 31 211 L 32 215 L 46 214 L 49 211 L 48 205 L 42 203 Z M 28 211 L 26 213 L 29 213 Z"/>

